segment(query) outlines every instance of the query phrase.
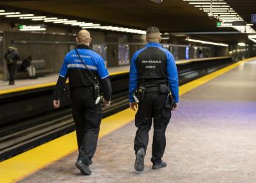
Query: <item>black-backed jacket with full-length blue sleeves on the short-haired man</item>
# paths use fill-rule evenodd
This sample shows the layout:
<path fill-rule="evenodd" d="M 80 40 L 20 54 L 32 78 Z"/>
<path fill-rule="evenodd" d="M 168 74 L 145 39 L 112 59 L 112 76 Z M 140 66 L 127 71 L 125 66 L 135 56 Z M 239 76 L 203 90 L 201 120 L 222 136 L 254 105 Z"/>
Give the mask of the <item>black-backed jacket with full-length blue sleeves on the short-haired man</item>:
<path fill-rule="evenodd" d="M 129 101 L 138 85 L 166 83 L 175 103 L 179 102 L 179 76 L 173 55 L 161 44 L 150 42 L 132 56 L 129 81 Z"/>

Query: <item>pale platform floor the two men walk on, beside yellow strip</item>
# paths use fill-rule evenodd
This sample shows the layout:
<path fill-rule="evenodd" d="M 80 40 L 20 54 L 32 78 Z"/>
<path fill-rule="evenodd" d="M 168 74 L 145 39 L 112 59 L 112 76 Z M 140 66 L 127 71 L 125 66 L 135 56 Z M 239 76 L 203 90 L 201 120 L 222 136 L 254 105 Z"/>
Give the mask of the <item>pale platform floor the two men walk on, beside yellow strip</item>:
<path fill-rule="evenodd" d="M 145 170 L 134 170 L 131 122 L 99 140 L 91 176 L 79 173 L 74 152 L 20 182 L 255 182 L 255 111 L 253 60 L 180 97 L 166 131 L 166 168 L 152 170 L 151 130 Z"/>

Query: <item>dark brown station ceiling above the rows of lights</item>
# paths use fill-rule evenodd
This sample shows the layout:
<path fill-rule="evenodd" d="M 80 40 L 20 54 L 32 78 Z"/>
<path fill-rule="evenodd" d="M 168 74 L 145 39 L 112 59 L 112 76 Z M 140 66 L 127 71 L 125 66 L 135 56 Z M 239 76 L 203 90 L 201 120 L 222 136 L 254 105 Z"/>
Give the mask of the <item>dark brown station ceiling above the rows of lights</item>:
<path fill-rule="evenodd" d="M 225 0 L 246 22 L 256 13 L 256 0 Z M 149 0 L 26 0 L 0 1 L 0 6 L 12 6 L 40 12 L 57 13 L 72 17 L 106 22 L 108 24 L 146 29 L 157 26 L 162 32 L 236 31 L 232 28 L 216 28 L 216 19 L 195 8 L 188 1 L 164 0 L 157 4 Z M 256 29 L 256 26 L 253 26 Z M 232 42 L 244 40 L 244 35 L 207 35 L 211 40 Z"/>

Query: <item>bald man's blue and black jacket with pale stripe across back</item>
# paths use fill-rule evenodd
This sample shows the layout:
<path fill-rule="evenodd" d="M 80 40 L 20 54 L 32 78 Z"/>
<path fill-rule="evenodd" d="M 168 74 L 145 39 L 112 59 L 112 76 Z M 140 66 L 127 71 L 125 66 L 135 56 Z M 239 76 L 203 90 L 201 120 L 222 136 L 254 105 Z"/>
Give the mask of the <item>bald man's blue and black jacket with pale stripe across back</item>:
<path fill-rule="evenodd" d="M 93 86 L 94 79 L 92 73 L 90 73 L 93 72 L 101 83 L 104 98 L 109 101 L 111 99 L 111 83 L 102 56 L 92 51 L 88 45 L 78 45 L 77 51 L 83 63 L 76 50 L 68 52 L 59 73 L 59 79 L 54 91 L 54 99 L 60 99 L 60 95 L 65 89 L 64 85 L 67 78 L 71 89 Z"/>

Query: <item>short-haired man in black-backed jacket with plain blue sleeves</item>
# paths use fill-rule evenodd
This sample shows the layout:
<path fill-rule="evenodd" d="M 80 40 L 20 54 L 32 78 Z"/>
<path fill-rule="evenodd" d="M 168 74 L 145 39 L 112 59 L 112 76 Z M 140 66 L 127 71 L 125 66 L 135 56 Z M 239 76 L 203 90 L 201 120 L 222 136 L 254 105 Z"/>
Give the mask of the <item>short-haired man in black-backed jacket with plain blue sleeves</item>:
<path fill-rule="evenodd" d="M 166 145 L 165 131 L 171 118 L 171 110 L 177 109 L 179 102 L 178 72 L 173 55 L 159 44 L 161 36 L 158 28 L 148 28 L 146 39 L 147 45 L 132 57 L 129 81 L 130 107 L 135 110 L 138 104 L 135 116 L 138 129 L 134 139 L 134 168 L 137 171 L 144 170 L 152 118 L 152 168 L 166 166 L 162 161 Z"/>

